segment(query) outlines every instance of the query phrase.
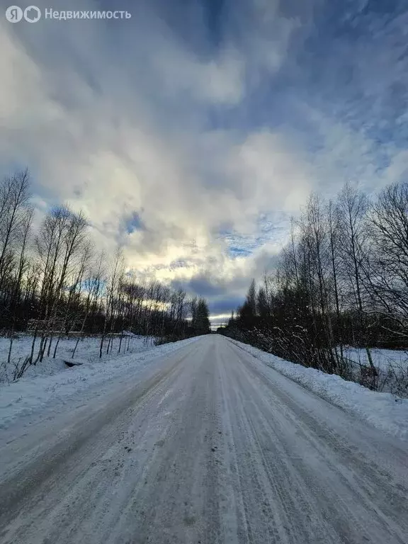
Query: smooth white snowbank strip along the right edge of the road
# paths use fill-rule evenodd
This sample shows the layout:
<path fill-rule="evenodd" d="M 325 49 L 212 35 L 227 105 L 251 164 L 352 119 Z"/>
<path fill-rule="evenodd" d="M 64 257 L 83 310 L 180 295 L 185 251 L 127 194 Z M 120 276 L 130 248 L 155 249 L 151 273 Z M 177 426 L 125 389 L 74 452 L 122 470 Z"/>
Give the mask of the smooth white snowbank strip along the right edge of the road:
<path fill-rule="evenodd" d="M 305 368 L 242 342 L 231 341 L 331 404 L 358 416 L 377 429 L 408 441 L 408 399 L 387 392 L 373 392 L 337 375 Z"/>

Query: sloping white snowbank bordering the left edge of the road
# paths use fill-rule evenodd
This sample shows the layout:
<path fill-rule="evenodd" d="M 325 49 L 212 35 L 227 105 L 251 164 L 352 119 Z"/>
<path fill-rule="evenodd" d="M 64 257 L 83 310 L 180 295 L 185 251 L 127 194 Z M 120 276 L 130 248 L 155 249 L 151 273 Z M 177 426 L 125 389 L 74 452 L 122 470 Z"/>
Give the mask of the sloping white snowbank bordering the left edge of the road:
<path fill-rule="evenodd" d="M 89 339 L 91 340 L 93 339 Z M 73 368 L 65 365 L 62 368 L 62 361 L 50 359 L 42 366 L 43 375 L 27 374 L 16 382 L 0 384 L 0 429 L 7 429 L 21 416 L 29 416 L 50 404 L 53 404 L 53 409 L 61 409 L 74 396 L 79 397 L 81 402 L 86 402 L 90 395 L 103 395 L 103 387 L 110 385 L 113 378 L 120 378 L 124 382 L 130 376 L 134 378 L 154 358 L 193 341 L 196 338 L 145 348 L 137 355 L 119 355 L 105 361 L 90 356 L 90 360 L 84 359 L 84 365 Z M 142 349 L 142 344 L 140 348 Z M 55 368 L 47 375 L 47 368 L 52 364 Z"/>

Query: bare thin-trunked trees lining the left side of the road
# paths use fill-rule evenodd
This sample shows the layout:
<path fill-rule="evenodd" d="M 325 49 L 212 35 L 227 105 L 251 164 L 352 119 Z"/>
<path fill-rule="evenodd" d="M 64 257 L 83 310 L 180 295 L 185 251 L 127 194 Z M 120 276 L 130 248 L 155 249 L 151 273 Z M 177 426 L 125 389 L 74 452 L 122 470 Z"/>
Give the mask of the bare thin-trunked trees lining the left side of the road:
<path fill-rule="evenodd" d="M 60 338 L 76 331 L 101 335 L 100 355 L 129 348 L 125 331 L 147 341 L 174 341 L 210 331 L 205 300 L 157 280 L 136 280 L 122 251 L 98 251 L 82 212 L 62 205 L 36 225 L 28 171 L 0 183 L 0 328 L 10 339 L 30 331 L 25 365 L 57 355 Z"/>

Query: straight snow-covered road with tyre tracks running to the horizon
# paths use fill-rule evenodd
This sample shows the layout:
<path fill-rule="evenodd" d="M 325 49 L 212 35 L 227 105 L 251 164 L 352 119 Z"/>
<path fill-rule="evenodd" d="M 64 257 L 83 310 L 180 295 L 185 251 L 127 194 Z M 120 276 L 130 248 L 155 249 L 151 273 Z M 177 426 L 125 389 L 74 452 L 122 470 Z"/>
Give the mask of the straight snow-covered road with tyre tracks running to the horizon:
<path fill-rule="evenodd" d="M 0 438 L 0 541 L 408 541 L 407 443 L 222 336 Z"/>

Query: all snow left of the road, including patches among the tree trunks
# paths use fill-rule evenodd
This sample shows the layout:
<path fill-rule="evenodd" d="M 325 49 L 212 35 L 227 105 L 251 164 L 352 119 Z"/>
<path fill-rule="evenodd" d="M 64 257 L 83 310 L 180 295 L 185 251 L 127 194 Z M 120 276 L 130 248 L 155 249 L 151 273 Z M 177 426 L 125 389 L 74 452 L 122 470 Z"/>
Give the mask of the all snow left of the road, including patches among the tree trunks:
<path fill-rule="evenodd" d="M 145 339 L 138 337 L 132 345 L 132 353 L 98 358 L 99 341 L 97 338 L 86 338 L 81 341 L 81 366 L 68 368 L 62 358 L 72 355 L 76 339 L 62 341 L 60 358 L 45 358 L 42 364 L 31 366 L 26 374 L 16 382 L 0 383 L 0 429 L 7 429 L 13 421 L 21 416 L 30 416 L 40 412 L 45 407 L 54 405 L 62 409 L 72 397 L 80 397 L 86 402 L 89 397 L 100 396 L 103 386 L 107 386 L 113 378 L 121 377 L 126 380 L 135 378 L 138 373 L 152 364 L 159 356 L 190 344 L 196 339 L 187 339 L 162 346 L 149 346 Z M 7 339 L 1 339 L 0 346 L 8 344 Z M 27 353 L 30 337 L 16 341 L 16 350 Z M 116 344 L 117 348 L 118 344 Z M 8 346 L 6 345 L 6 348 Z M 61 357 L 62 356 L 62 357 Z M 78 361 L 79 358 L 75 357 Z"/>

